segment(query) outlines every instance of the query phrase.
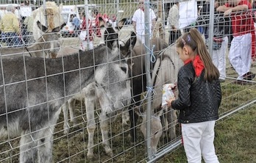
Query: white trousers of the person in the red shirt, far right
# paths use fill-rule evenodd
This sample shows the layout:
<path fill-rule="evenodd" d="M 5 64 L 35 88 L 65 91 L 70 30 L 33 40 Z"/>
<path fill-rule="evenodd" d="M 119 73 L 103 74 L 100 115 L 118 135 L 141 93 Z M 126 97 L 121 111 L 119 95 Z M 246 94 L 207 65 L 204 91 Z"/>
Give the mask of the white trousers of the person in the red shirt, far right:
<path fill-rule="evenodd" d="M 243 79 L 243 75 L 251 68 L 252 56 L 252 34 L 248 33 L 233 37 L 230 46 L 230 63 L 238 73 L 238 80 Z"/>

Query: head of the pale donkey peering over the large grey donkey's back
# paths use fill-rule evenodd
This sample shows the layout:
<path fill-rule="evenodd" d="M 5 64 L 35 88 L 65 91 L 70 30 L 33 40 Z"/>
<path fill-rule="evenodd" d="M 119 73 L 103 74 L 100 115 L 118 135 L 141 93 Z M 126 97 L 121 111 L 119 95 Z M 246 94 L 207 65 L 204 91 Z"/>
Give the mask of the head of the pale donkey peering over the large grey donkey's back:
<path fill-rule="evenodd" d="M 40 21 L 37 21 L 38 28 L 44 33 L 38 40 L 37 43 L 40 43 L 40 50 L 43 50 L 46 58 L 56 58 L 58 51 L 60 51 L 61 42 L 59 40 L 60 37 L 60 29 L 65 26 L 63 23 L 61 26 L 57 26 L 51 31 L 43 26 Z"/>

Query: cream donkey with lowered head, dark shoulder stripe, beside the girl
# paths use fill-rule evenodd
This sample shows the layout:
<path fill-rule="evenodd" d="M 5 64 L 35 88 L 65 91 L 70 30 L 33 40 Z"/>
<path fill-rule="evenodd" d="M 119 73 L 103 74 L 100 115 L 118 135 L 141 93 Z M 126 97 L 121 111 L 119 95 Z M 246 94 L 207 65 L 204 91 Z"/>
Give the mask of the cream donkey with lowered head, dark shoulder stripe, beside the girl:
<path fill-rule="evenodd" d="M 162 95 L 163 95 L 163 84 L 177 83 L 177 76 L 179 68 L 183 65 L 179 56 L 175 54 L 175 44 L 168 46 L 164 51 L 157 57 L 157 62 L 152 70 L 152 85 L 154 86 L 154 94 L 152 97 L 152 132 L 151 132 L 151 146 L 152 153 L 157 152 L 157 145 L 162 136 L 163 131 L 166 131 L 167 137 L 170 140 L 176 138 L 176 123 L 177 123 L 177 112 L 171 107 L 162 107 Z M 177 93 L 176 93 L 177 94 Z M 163 113 L 163 114 L 162 114 Z M 146 118 L 145 113 L 141 113 L 143 116 L 143 122 L 141 125 L 141 131 L 146 138 Z M 163 117 L 163 125 L 160 121 L 160 115 Z"/>

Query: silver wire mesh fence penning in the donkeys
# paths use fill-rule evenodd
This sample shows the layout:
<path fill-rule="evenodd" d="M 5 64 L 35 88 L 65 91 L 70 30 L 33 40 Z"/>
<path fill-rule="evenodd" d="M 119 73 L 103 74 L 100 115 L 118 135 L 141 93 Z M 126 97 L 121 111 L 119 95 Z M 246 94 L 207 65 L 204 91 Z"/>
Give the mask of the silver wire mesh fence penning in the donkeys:
<path fill-rule="evenodd" d="M 1 27 L 0 162 L 166 162 L 181 128 L 179 112 L 162 106 L 163 85 L 177 83 L 183 62 L 172 43 L 191 28 L 221 73 L 220 117 L 255 102 L 255 30 L 243 25 L 252 25 L 254 10 L 211 20 L 205 1 L 1 2 L 1 26 L 13 12 L 18 28 Z M 230 54 L 238 51 L 250 54 L 244 67 Z"/>

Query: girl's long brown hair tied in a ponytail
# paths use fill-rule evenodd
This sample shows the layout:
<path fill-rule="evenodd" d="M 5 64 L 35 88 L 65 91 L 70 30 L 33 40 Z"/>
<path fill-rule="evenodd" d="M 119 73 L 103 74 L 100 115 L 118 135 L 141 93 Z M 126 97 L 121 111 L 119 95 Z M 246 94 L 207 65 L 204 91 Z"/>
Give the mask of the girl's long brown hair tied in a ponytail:
<path fill-rule="evenodd" d="M 199 55 L 205 65 L 205 80 L 211 82 L 218 79 L 218 68 L 213 65 L 213 61 L 205 46 L 205 41 L 202 39 L 202 36 L 197 29 L 193 28 L 190 32 L 186 32 L 184 35 L 179 37 L 176 45 L 177 48 L 183 48 L 185 45 L 190 46 L 194 51 L 194 54 Z"/>

